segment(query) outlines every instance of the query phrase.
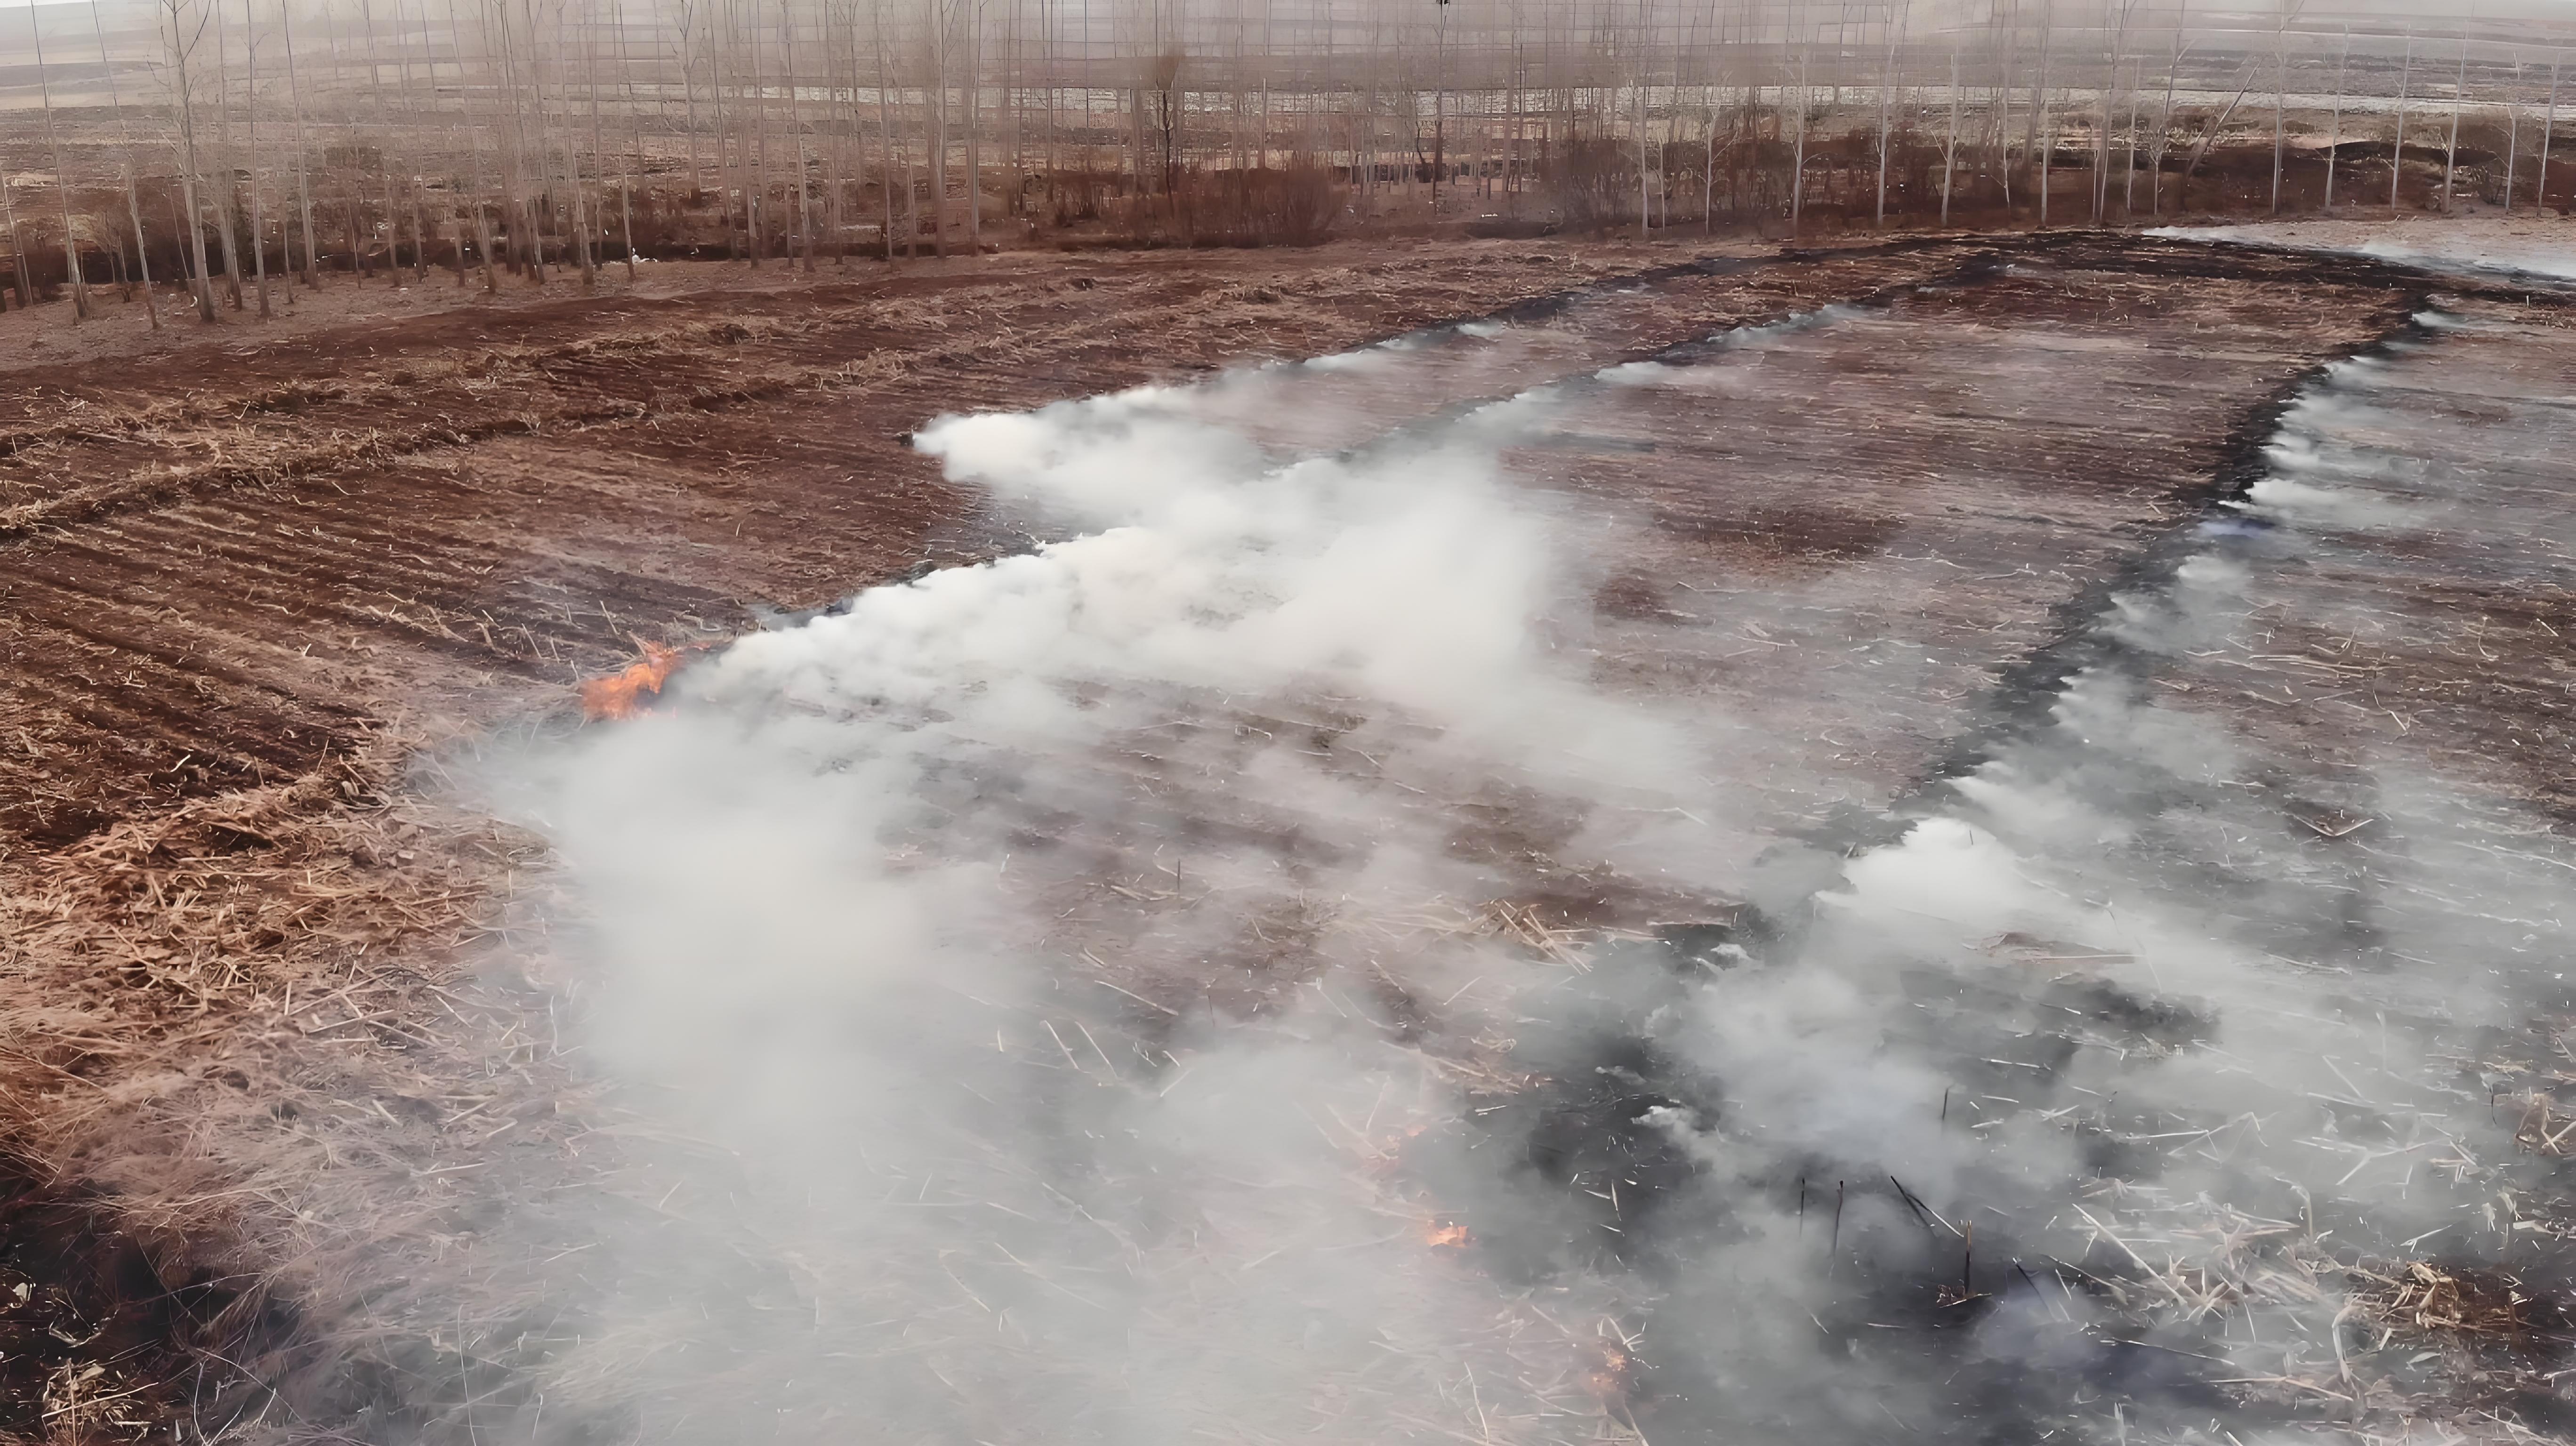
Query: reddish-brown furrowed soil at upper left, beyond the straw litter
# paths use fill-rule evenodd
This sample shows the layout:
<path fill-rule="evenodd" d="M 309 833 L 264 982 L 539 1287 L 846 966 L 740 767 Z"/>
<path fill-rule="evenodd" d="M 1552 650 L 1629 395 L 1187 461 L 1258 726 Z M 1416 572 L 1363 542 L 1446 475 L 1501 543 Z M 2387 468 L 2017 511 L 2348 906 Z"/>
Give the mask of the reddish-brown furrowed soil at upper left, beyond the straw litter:
<path fill-rule="evenodd" d="M 1525 247 L 1023 265 L 21 374 L 0 838 L 299 778 L 397 711 L 489 717 L 639 634 L 724 637 L 899 572 L 974 513 L 904 446 L 943 410 L 1329 351 L 1602 271 Z"/>

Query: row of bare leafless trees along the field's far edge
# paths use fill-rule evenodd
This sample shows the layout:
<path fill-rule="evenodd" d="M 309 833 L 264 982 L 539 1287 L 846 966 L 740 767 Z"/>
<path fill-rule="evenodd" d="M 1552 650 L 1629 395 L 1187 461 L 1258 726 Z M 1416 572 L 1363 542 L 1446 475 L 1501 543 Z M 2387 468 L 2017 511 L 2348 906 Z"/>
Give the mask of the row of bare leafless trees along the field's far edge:
<path fill-rule="evenodd" d="M 155 268 L 214 320 L 325 271 L 587 286 L 647 253 L 811 268 L 987 227 L 2102 222 L 2264 142 L 2269 209 L 2318 160 L 2326 206 L 2409 175 L 2450 204 L 2463 157 L 2506 206 L 2563 201 L 2576 34 L 2442 0 L 147 3 L 28 8 L 36 126 L 8 139 L 46 155 L 0 168 L 21 302 L 49 271 L 85 317 L 108 278 L 160 325 Z"/>

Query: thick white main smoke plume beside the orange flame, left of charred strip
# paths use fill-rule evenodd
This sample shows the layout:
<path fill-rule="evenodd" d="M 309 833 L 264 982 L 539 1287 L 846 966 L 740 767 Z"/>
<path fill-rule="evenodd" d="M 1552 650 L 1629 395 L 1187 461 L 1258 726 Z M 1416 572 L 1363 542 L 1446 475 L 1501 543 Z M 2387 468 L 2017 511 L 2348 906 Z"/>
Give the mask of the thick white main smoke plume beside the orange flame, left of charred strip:
<path fill-rule="evenodd" d="M 1437 804 L 1672 799 L 1710 760 L 1551 660 L 1579 559 L 1492 423 L 1278 464 L 1198 405 L 927 428 L 1087 534 L 747 639 L 569 768 L 603 1046 L 742 1152 L 739 1224 L 827 1312 L 734 1338 L 757 1400 L 1136 1441 L 1587 1407 L 1600 1361 L 1522 1340 L 1551 1312 L 1502 1320 L 1401 1165 L 1494 1072 L 1461 1026 L 1548 972 L 1473 930 L 1494 879 Z M 1641 817 L 1600 843 L 1687 858 Z"/>

